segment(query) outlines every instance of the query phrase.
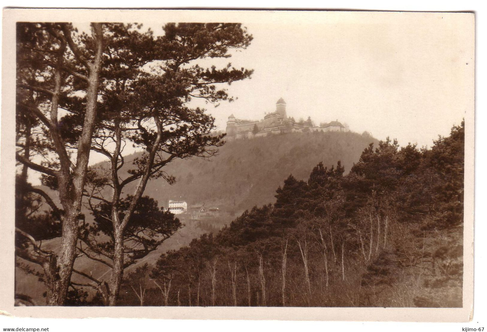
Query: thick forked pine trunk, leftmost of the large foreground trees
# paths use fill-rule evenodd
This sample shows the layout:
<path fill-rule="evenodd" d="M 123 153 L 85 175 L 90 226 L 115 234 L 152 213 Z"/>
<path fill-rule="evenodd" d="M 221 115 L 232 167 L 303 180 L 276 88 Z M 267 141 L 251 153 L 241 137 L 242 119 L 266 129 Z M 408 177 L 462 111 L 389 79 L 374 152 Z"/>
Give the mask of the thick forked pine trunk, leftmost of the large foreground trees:
<path fill-rule="evenodd" d="M 58 257 L 49 264 L 50 271 L 47 292 L 48 305 L 64 305 L 68 294 L 68 287 L 73 274 L 73 265 L 76 257 L 76 241 L 78 236 L 78 215 L 81 211 L 81 200 L 86 181 L 86 173 L 91 150 L 91 141 L 96 119 L 96 106 L 98 98 L 98 77 L 101 70 L 101 60 L 103 51 L 103 31 L 101 23 L 93 23 L 95 56 L 94 62 L 89 63 L 88 88 L 86 93 L 86 111 L 83 128 L 78 139 L 76 152 L 76 164 L 71 172 L 71 162 L 65 150 L 64 142 L 61 140 L 60 133 L 56 127 L 51 128 L 56 152 L 60 158 L 60 173 L 57 176 L 59 187 L 59 198 L 61 205 L 66 211 L 66 216 L 62 223 L 61 245 Z M 70 31 L 71 33 L 71 31 Z M 65 45 L 64 45 L 65 47 Z M 74 50 L 72 49 L 74 52 Z M 64 52 L 64 51 L 63 51 Z M 55 72 L 55 94 L 51 100 L 51 121 L 57 124 L 57 105 L 58 93 L 61 86 L 61 70 L 63 67 L 63 54 L 58 58 L 58 65 Z M 66 160 L 66 158 L 68 158 Z M 54 262 L 54 264 L 52 263 Z"/>

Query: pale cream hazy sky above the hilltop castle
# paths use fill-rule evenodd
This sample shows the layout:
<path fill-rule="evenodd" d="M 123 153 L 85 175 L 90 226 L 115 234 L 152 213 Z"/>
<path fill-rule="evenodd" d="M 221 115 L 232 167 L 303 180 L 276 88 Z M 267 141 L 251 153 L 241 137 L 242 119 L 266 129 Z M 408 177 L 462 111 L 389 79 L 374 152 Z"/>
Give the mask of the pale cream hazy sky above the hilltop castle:
<path fill-rule="evenodd" d="M 262 119 L 282 97 L 296 120 L 338 120 L 378 139 L 431 146 L 469 111 L 470 15 L 321 12 L 319 20 L 293 21 L 285 14 L 242 20 L 254 36 L 251 45 L 229 59 L 206 61 L 255 70 L 252 79 L 228 87 L 238 100 L 206 105 L 220 129 L 231 113 Z M 156 34 L 160 25 L 145 24 Z"/>

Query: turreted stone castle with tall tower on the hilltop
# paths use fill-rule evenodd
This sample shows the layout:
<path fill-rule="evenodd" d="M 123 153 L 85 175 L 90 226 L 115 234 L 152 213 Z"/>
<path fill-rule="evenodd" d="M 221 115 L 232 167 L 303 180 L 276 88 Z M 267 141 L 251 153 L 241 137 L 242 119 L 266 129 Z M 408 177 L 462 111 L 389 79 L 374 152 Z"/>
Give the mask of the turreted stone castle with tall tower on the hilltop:
<path fill-rule="evenodd" d="M 260 121 L 236 119 L 232 114 L 226 122 L 226 139 L 242 139 L 267 136 L 270 134 L 306 132 L 306 131 L 345 131 L 345 126 L 338 121 L 314 125 L 311 118 L 296 121 L 286 116 L 286 102 L 280 98 L 276 103 L 276 111 L 264 113 Z"/>

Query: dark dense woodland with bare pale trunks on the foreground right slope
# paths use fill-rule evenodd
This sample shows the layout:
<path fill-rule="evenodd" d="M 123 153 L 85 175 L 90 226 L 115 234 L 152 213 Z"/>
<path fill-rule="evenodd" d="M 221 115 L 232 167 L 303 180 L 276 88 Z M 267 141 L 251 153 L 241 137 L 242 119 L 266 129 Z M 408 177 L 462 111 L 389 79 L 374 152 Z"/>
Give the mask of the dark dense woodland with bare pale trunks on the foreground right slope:
<path fill-rule="evenodd" d="M 134 269 L 118 304 L 461 307 L 463 122 L 431 149 L 372 143 L 343 173 L 289 175 L 275 204 Z"/>

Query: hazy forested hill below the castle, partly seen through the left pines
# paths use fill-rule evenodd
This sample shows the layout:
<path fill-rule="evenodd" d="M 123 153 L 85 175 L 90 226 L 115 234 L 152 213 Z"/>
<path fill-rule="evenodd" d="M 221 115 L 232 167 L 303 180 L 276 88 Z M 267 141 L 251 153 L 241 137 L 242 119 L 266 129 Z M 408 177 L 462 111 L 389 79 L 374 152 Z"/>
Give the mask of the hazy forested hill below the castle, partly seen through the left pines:
<path fill-rule="evenodd" d="M 221 211 L 220 217 L 195 223 L 180 216 L 185 227 L 150 253 L 142 263 L 154 264 L 162 253 L 188 245 L 191 239 L 204 232 L 218 231 L 224 225 L 230 224 L 244 210 L 251 209 L 255 205 L 261 206 L 274 202 L 275 188 L 282 185 L 282 181 L 289 174 L 305 179 L 310 165 L 323 161 L 325 165 L 331 166 L 336 160 L 342 160 L 345 172 L 348 172 L 353 163 L 359 159 L 363 149 L 371 142 L 377 140 L 369 135 L 352 132 L 294 133 L 228 141 L 220 148 L 219 155 L 209 161 L 198 157 L 174 160 L 165 169 L 169 175 L 175 176 L 176 182 L 169 185 L 163 178 L 153 179 L 149 182 L 145 195 L 155 199 L 160 207 L 167 207 L 169 199 L 185 199 L 189 205 L 196 203 L 205 203 L 206 206 L 216 205 Z M 139 156 L 140 154 L 135 154 L 126 157 L 127 166 L 120 173 L 125 175 L 124 170 L 131 167 L 130 161 Z M 107 165 L 101 163 L 94 165 L 93 168 L 106 169 Z M 46 186 L 41 188 L 56 200 L 54 191 Z M 127 192 L 131 191 L 133 187 L 128 185 Z M 107 189 L 104 194 L 105 197 L 110 197 L 110 189 Z M 57 201 L 56 203 L 58 204 Z M 91 225 L 94 217 L 86 203 L 82 212 L 85 214 L 87 224 Z M 48 215 L 49 213 L 41 216 L 49 219 Z M 17 219 L 20 225 L 22 218 Z M 55 233 L 50 236 L 43 235 L 46 239 L 43 247 L 56 251 L 59 247 L 59 234 L 56 232 L 59 232 L 60 228 L 54 227 L 51 230 L 51 228 L 40 227 L 33 230 L 33 226 L 29 226 L 31 224 L 36 226 L 38 223 L 34 223 L 31 218 L 29 223 L 22 227 L 36 234 L 39 234 L 39 229 L 42 230 L 40 233 L 47 231 Z M 20 259 L 18 264 L 24 268 L 17 269 L 17 273 L 21 276 L 16 285 L 17 292 L 29 295 L 36 303 L 43 303 L 45 298 L 42 294 L 45 289 L 38 280 L 39 275 L 35 265 Z M 76 259 L 75 269 L 93 274 L 95 278 L 103 278 L 109 273 L 110 267 L 82 255 Z M 132 269 L 133 266 L 129 271 Z M 29 272 L 26 274 L 25 271 Z M 73 281 L 85 280 L 75 274 Z"/>

